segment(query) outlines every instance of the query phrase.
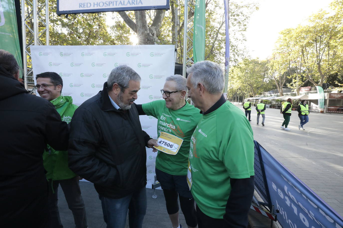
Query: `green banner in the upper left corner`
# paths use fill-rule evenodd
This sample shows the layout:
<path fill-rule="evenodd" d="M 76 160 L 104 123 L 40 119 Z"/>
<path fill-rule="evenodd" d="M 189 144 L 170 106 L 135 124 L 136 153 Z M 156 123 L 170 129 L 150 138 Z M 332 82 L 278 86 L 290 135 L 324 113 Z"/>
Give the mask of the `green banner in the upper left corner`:
<path fill-rule="evenodd" d="M 23 67 L 14 0 L 0 0 L 0 49 L 12 53 Z"/>

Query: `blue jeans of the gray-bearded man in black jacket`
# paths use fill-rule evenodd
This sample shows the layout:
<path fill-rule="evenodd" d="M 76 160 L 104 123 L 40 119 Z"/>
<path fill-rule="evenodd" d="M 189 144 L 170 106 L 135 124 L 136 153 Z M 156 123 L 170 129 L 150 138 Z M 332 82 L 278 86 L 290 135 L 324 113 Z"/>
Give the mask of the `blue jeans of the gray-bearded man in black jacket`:
<path fill-rule="evenodd" d="M 120 199 L 110 199 L 99 195 L 107 228 L 125 228 L 129 210 L 130 228 L 141 228 L 146 212 L 145 186 Z"/>

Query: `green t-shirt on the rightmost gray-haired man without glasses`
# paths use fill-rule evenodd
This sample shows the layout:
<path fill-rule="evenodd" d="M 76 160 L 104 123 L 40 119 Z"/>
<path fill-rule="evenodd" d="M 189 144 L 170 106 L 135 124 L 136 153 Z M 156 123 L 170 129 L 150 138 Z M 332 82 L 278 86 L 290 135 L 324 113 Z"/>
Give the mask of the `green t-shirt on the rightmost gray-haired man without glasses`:
<path fill-rule="evenodd" d="M 223 219 L 230 178 L 254 175 L 253 133 L 244 113 L 230 102 L 203 115 L 189 150 L 192 195 L 206 215 Z"/>

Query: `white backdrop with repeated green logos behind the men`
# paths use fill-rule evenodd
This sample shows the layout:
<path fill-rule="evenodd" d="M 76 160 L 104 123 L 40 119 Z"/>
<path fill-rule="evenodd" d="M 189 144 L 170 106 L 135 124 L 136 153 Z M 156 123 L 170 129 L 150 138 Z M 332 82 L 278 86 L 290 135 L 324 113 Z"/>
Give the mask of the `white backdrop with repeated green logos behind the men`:
<path fill-rule="evenodd" d="M 63 79 L 62 94 L 71 96 L 80 106 L 103 89 L 111 70 L 128 65 L 142 78 L 136 104 L 162 99 L 165 78 L 174 75 L 174 45 L 107 45 L 107 46 L 31 46 L 34 76 L 56 72 Z M 36 83 L 36 79 L 35 83 Z M 38 95 L 38 94 L 37 94 Z M 157 139 L 157 120 L 140 116 L 143 131 Z M 157 153 L 146 150 L 147 188 L 155 176 Z"/>

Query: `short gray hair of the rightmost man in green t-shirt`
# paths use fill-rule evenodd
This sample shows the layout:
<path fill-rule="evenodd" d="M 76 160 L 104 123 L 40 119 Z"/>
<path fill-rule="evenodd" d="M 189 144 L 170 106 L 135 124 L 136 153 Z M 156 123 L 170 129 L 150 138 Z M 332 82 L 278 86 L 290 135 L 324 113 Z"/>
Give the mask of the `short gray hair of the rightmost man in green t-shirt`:
<path fill-rule="evenodd" d="M 201 61 L 187 69 L 187 73 L 193 73 L 190 82 L 193 87 L 202 83 L 210 94 L 222 93 L 224 89 L 224 71 L 222 67 L 211 61 Z"/>

